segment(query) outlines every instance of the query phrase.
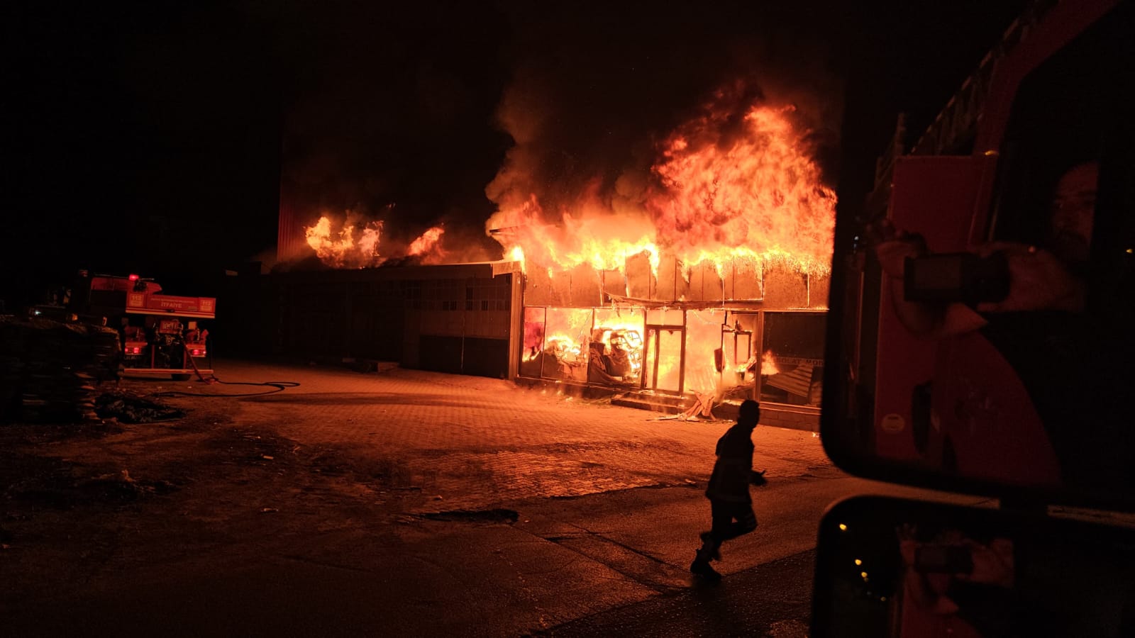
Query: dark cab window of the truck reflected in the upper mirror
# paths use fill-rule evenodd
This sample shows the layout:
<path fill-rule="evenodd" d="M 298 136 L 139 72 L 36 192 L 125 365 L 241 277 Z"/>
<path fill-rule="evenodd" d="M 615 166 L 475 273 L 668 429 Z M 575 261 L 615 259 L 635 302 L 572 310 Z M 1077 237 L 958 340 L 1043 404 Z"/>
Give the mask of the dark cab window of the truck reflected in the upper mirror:
<path fill-rule="evenodd" d="M 1078 207 L 1087 209 L 1091 224 L 1082 228 L 1090 226 L 1092 254 L 1120 249 L 1117 232 L 1129 233 L 1132 211 L 1129 192 L 1123 191 L 1129 191 L 1132 175 L 1133 15 L 1129 3 L 1118 7 L 1022 83 L 1001 148 L 989 237 L 1043 246 L 1058 241 L 1053 217 L 1059 226 L 1067 223 L 1059 219 L 1061 211 L 1068 216 Z M 1098 200 L 1087 201 L 1083 184 L 1091 168 L 1069 176 L 1085 165 L 1098 168 Z M 1082 196 L 1069 201 L 1077 188 Z"/>

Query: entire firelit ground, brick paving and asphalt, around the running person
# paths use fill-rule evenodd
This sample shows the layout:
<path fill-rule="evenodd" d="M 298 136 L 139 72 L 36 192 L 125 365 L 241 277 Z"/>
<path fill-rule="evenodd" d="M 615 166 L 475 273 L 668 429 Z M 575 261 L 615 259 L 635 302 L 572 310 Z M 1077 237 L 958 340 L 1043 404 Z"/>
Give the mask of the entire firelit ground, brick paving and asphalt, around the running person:
<path fill-rule="evenodd" d="M 15 524 L 24 569 L 10 563 L 9 584 L 59 578 L 60 588 L 0 604 L 0 633 L 804 636 L 829 504 L 978 501 L 849 477 L 810 433 L 758 428 L 756 464 L 770 477 L 754 490 L 759 527 L 723 547 L 724 581 L 701 587 L 687 569 L 728 422 L 409 370 L 217 369 L 227 381 L 300 386 L 225 397 L 239 386 L 133 380 L 179 393 L 165 400 L 199 425 L 52 444 L 68 462 L 129 463 L 178 489 L 86 521 L 98 529 L 83 531 L 75 512 L 41 514 L 56 536 L 20 537 Z M 218 450 L 229 455 L 216 461 Z M 119 542 L 93 556 L 73 549 L 72 524 Z"/>

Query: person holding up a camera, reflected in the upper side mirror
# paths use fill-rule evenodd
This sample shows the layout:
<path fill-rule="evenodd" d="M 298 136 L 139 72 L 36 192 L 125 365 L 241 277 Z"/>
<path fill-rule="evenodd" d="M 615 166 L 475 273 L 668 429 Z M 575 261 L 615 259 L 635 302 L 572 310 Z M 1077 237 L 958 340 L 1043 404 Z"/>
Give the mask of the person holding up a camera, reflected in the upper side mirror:
<path fill-rule="evenodd" d="M 1109 309 L 1123 307 L 1132 291 L 1088 295 L 1099 174 L 1094 160 L 1059 173 L 1036 244 L 998 241 L 977 250 L 1006 257 L 1008 294 L 1001 301 L 906 301 L 905 260 L 927 254 L 918 235 L 885 228 L 875 254 L 903 326 L 927 338 L 977 334 L 989 342 L 1028 393 L 1062 484 L 1111 490 L 1135 487 L 1135 443 L 1113 408 L 1130 379 L 1124 370 L 1132 364 L 1132 338 L 1129 326 L 1117 327 L 1123 311 Z"/>

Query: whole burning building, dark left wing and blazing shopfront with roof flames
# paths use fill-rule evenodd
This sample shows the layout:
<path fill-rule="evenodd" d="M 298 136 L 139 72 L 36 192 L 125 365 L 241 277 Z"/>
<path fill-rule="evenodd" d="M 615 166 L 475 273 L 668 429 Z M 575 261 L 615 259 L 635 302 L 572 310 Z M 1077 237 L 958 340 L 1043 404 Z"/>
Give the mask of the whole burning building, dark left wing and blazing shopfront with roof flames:
<path fill-rule="evenodd" d="M 338 269 L 277 278 L 278 349 L 675 409 L 755 397 L 766 423 L 818 428 L 835 196 L 791 106 L 725 86 L 648 162 L 590 179 L 548 179 L 514 137 L 486 188 L 503 259 L 455 263 L 440 227 L 385 255 L 380 220 L 281 202 L 281 257 Z"/>

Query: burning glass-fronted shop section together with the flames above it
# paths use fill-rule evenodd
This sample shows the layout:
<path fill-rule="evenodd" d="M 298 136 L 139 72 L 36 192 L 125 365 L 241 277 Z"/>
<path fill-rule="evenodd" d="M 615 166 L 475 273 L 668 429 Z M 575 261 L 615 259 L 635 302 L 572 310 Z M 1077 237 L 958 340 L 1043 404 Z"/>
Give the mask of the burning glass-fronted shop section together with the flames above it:
<path fill-rule="evenodd" d="M 835 196 L 793 109 L 731 89 L 614 195 L 549 213 L 508 167 L 490 184 L 489 234 L 523 272 L 520 380 L 691 415 L 754 397 L 767 422 L 818 426 Z"/>

